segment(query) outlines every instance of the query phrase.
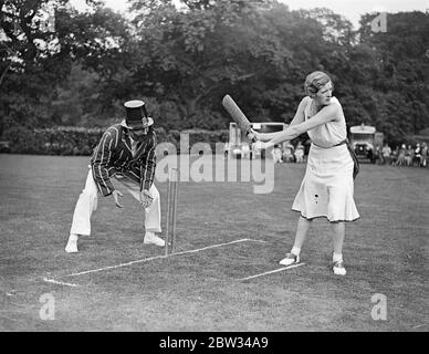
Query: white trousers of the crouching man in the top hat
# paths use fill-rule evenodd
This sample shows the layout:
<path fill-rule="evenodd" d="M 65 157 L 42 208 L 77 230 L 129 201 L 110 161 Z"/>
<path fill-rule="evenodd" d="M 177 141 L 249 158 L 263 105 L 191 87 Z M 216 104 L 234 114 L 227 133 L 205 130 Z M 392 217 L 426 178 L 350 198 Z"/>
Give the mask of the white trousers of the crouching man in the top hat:
<path fill-rule="evenodd" d="M 140 186 L 127 177 L 116 179 L 123 185 L 128 192 L 139 201 Z M 161 232 L 160 227 L 160 198 L 159 191 L 153 184 L 149 189 L 154 200 L 149 208 L 144 210 L 145 212 L 145 230 L 151 232 Z M 98 190 L 95 185 L 92 169 L 86 177 L 85 188 L 79 196 L 79 200 L 73 214 L 73 222 L 70 233 L 75 235 L 91 235 L 91 216 L 97 209 Z M 112 205 L 114 201 L 112 199 Z"/>

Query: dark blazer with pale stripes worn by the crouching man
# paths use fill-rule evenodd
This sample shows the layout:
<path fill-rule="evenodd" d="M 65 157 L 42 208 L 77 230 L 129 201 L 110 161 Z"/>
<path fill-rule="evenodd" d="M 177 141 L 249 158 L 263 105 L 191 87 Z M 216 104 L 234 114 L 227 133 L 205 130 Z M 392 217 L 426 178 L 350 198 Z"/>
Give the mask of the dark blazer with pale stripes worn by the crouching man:
<path fill-rule="evenodd" d="M 140 185 L 140 190 L 149 189 L 154 183 L 156 168 L 156 133 L 149 127 L 146 138 L 137 144 L 135 156 L 128 129 L 115 124 L 104 132 L 91 158 L 91 168 L 98 191 L 109 196 L 115 187 L 111 177 L 124 175 Z"/>

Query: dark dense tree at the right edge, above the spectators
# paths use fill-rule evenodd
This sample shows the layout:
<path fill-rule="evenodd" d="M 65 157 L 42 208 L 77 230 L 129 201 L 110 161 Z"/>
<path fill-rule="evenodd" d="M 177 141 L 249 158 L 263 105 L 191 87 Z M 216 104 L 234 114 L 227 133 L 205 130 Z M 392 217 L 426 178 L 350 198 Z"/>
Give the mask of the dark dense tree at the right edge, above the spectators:
<path fill-rule="evenodd" d="M 367 85 L 378 93 L 377 127 L 399 142 L 429 125 L 429 12 L 387 13 L 385 33 L 370 30 L 374 17 L 365 14 L 359 30 L 379 67 Z"/>

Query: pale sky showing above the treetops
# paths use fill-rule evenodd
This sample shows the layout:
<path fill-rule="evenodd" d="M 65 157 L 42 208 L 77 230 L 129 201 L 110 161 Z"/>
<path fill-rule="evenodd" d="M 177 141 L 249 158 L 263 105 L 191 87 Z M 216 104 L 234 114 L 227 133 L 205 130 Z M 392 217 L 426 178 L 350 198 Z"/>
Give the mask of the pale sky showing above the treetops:
<path fill-rule="evenodd" d="M 344 15 L 357 28 L 360 14 L 370 12 L 429 11 L 428 0 L 280 0 L 291 10 L 328 8 Z M 84 0 L 72 0 L 84 3 Z M 126 12 L 126 0 L 104 0 L 113 10 Z"/>

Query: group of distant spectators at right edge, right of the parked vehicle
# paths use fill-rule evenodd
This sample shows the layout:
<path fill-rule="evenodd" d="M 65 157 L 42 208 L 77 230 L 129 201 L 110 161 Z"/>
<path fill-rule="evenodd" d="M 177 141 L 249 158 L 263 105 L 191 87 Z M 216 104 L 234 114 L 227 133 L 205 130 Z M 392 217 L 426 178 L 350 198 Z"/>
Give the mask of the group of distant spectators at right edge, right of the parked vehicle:
<path fill-rule="evenodd" d="M 407 167 L 427 167 L 428 166 L 428 144 L 417 143 L 416 146 L 401 144 L 395 149 L 385 143 L 384 146 L 377 146 L 377 164 Z"/>

